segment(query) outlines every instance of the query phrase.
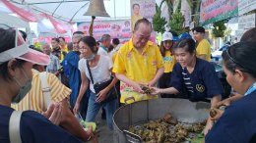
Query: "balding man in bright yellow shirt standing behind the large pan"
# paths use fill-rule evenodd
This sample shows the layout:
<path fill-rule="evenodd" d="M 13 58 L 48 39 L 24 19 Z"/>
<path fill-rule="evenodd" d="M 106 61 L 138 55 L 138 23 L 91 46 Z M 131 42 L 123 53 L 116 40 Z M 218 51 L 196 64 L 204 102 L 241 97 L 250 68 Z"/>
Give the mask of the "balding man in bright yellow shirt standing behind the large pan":
<path fill-rule="evenodd" d="M 141 19 L 135 24 L 133 37 L 117 52 L 113 72 L 121 81 L 121 103 L 148 100 L 158 96 L 144 94 L 140 84 L 155 85 L 163 73 L 160 48 L 149 41 L 152 24 Z"/>

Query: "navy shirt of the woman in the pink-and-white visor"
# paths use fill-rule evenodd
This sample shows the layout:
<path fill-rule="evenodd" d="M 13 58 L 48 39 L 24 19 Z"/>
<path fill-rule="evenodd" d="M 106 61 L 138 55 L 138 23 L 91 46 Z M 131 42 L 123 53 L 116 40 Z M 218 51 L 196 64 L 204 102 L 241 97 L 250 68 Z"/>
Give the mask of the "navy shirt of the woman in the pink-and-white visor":
<path fill-rule="evenodd" d="M 10 143 L 9 119 L 14 110 L 0 105 L 0 111 L 0 142 Z M 23 143 L 81 143 L 64 129 L 33 111 L 23 112 L 20 125 Z"/>

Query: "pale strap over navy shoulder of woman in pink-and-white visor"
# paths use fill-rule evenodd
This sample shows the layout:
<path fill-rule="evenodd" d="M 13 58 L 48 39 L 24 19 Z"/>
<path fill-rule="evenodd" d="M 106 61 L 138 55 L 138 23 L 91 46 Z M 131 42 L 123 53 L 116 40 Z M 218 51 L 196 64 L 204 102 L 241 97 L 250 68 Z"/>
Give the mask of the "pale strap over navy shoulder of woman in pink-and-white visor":
<path fill-rule="evenodd" d="M 9 120 L 9 138 L 10 143 L 22 143 L 20 132 L 20 122 L 23 112 L 14 111 Z"/>

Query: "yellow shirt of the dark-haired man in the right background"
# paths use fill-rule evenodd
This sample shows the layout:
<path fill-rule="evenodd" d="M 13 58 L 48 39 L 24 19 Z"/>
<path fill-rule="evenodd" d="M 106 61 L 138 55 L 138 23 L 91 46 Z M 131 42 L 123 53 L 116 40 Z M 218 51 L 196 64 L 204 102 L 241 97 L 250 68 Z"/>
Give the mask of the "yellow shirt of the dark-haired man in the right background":
<path fill-rule="evenodd" d="M 206 61 L 211 61 L 211 45 L 207 39 L 203 39 L 197 46 L 197 56 L 206 55 Z"/>

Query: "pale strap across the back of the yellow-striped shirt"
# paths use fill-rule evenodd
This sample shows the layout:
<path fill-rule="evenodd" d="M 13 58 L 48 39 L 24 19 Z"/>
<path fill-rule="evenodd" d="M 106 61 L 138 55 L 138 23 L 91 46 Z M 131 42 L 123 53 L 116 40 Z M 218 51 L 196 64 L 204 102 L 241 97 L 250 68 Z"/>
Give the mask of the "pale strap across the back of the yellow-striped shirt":
<path fill-rule="evenodd" d="M 51 104 L 51 91 L 50 91 L 50 86 L 47 82 L 47 72 L 43 71 L 39 73 L 40 81 L 41 81 L 41 90 L 43 93 L 44 101 L 45 101 L 45 106 L 48 108 Z"/>

